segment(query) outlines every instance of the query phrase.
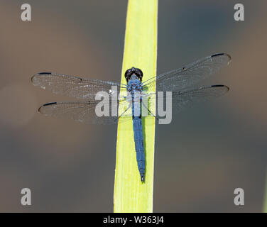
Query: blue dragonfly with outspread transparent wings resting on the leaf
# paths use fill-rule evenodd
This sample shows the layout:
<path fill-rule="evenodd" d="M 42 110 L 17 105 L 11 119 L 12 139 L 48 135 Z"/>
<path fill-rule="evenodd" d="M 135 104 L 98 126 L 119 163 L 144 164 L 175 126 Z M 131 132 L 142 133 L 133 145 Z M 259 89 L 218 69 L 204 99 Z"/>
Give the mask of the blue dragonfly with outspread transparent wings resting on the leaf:
<path fill-rule="evenodd" d="M 145 181 L 146 160 L 145 148 L 143 145 L 142 120 L 160 116 L 152 111 L 156 101 L 163 101 L 159 92 L 171 92 L 172 113 L 177 114 L 187 106 L 209 101 L 229 91 L 229 87 L 221 84 L 204 87 L 193 87 L 216 72 L 222 67 L 229 65 L 230 55 L 217 53 L 201 58 L 195 62 L 185 65 L 177 70 L 158 74 L 151 79 L 142 82 L 143 72 L 137 67 L 126 70 L 124 77 L 126 84 L 103 81 L 99 79 L 84 79 L 55 72 L 39 72 L 31 78 L 33 85 L 42 89 L 48 89 L 55 94 L 72 96 L 79 101 L 51 102 L 40 106 L 38 111 L 46 116 L 71 118 L 83 123 L 111 124 L 132 121 L 133 140 L 136 150 L 136 161 L 140 173 L 141 182 Z M 97 98 L 99 92 L 104 92 L 108 97 L 114 95 L 114 87 L 122 94 L 114 99 Z M 156 87 L 156 92 L 154 91 Z M 123 94 L 126 92 L 126 94 Z M 103 96 L 104 98 L 104 96 Z M 146 99 L 146 105 L 144 104 Z M 97 105 L 107 104 L 109 111 L 119 106 L 117 114 L 98 116 Z M 148 114 L 142 114 L 145 109 Z"/>

